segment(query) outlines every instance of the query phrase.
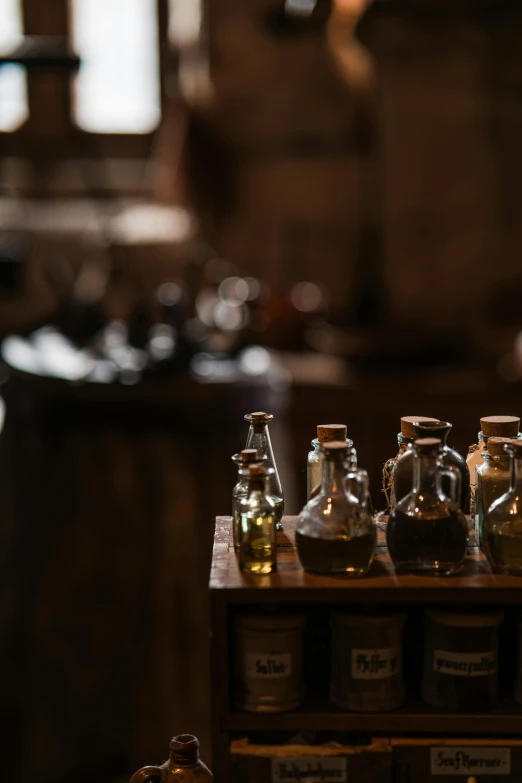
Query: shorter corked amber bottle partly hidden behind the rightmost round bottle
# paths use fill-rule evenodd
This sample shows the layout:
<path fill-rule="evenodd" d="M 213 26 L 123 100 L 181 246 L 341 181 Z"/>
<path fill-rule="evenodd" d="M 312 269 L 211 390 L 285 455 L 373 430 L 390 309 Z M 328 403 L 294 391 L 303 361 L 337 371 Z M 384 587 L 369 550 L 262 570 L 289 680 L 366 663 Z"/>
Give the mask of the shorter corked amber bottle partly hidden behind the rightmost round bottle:
<path fill-rule="evenodd" d="M 488 438 L 487 451 L 481 454 L 484 461 L 477 468 L 476 534 L 480 547 L 484 514 L 509 489 L 511 467 L 509 454 L 504 451 L 505 443 L 511 443 L 511 438 Z"/>

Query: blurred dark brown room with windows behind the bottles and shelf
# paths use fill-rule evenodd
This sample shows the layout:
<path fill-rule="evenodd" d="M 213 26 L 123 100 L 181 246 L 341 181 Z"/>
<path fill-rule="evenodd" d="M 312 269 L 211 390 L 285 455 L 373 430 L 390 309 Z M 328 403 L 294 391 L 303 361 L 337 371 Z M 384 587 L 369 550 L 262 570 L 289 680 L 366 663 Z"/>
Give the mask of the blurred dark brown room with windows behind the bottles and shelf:
<path fill-rule="evenodd" d="M 0 0 L 6 780 L 197 734 L 243 415 L 287 513 L 345 422 L 520 415 L 513 0 Z"/>

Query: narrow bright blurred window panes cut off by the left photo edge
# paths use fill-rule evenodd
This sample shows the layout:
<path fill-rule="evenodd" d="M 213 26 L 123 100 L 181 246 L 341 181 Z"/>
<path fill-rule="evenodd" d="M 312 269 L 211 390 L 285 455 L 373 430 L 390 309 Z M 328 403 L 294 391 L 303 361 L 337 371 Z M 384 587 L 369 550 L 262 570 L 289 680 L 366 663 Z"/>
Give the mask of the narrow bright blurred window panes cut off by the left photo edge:
<path fill-rule="evenodd" d="M 20 0 L 0 0 L 0 53 L 22 40 L 22 8 Z M 19 128 L 29 114 L 27 80 L 19 65 L 0 67 L 0 131 Z"/>

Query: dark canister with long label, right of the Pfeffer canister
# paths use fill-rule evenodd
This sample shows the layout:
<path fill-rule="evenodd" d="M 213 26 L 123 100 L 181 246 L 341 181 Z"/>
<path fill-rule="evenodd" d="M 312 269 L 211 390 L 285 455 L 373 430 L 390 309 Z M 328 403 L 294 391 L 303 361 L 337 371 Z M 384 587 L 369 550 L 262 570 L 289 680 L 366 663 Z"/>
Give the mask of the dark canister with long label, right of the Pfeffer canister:
<path fill-rule="evenodd" d="M 422 697 L 434 707 L 473 712 L 498 703 L 502 612 L 425 615 Z"/>

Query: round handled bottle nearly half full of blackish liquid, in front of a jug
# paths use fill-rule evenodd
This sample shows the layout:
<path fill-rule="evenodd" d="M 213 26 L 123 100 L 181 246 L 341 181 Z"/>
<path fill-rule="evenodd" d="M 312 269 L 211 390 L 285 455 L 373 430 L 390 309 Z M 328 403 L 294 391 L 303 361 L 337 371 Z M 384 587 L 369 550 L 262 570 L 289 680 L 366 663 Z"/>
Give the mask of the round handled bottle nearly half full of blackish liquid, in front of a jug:
<path fill-rule="evenodd" d="M 386 538 L 399 572 L 447 575 L 464 564 L 468 523 L 458 505 L 460 473 L 441 465 L 439 438 L 413 443 L 413 489 L 390 514 Z M 453 476 L 452 497 L 444 495 L 442 476 Z"/>

